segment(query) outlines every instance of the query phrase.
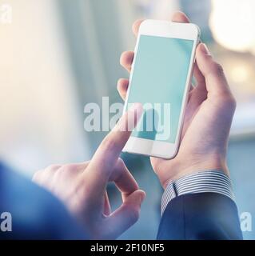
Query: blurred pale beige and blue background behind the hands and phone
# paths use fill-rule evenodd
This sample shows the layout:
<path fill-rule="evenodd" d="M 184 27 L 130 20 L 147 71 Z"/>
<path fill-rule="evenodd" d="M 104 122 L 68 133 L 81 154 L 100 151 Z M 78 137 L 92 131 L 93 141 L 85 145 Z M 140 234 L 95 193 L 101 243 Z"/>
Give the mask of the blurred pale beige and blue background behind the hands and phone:
<path fill-rule="evenodd" d="M 128 74 L 119 57 L 133 50 L 133 21 L 182 10 L 201 27 L 237 98 L 229 168 L 240 214 L 255 216 L 255 1 L 0 0 L 0 17 L 6 4 L 12 21 L 0 22 L 0 158 L 29 178 L 51 163 L 90 159 L 105 134 L 84 130 L 83 109 L 103 96 L 122 102 L 116 85 Z M 148 158 L 122 157 L 147 198 L 140 220 L 121 238 L 153 239 L 161 186 Z M 118 206 L 114 186 L 109 191 Z M 255 239 L 255 231 L 244 237 Z"/>

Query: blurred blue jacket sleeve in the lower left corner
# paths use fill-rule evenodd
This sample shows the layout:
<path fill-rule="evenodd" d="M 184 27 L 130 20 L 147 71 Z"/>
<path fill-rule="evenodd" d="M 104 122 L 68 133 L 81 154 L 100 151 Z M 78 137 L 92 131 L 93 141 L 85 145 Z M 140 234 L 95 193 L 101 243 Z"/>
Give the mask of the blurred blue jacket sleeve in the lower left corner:
<path fill-rule="evenodd" d="M 57 198 L 0 162 L 0 214 L 3 212 L 11 214 L 12 230 L 0 231 L 1 240 L 87 238 Z"/>

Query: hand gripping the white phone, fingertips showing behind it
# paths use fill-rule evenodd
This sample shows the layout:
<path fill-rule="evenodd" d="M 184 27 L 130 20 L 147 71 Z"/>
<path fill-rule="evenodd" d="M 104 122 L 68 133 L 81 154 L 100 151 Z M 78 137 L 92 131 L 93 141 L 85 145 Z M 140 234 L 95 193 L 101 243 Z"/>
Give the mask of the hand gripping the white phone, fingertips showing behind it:
<path fill-rule="evenodd" d="M 172 21 L 189 22 L 189 19 L 177 12 Z M 136 36 L 141 22 L 138 20 L 133 24 Z M 222 67 L 213 60 L 205 44 L 197 46 L 196 56 L 193 75 L 197 85 L 189 92 L 179 151 L 171 160 L 151 158 L 153 170 L 163 187 L 169 181 L 199 170 L 222 170 L 229 174 L 226 150 L 236 102 Z M 130 71 L 133 51 L 124 52 L 120 62 Z M 118 81 L 118 92 L 123 99 L 128 86 L 129 80 L 122 78 Z"/>

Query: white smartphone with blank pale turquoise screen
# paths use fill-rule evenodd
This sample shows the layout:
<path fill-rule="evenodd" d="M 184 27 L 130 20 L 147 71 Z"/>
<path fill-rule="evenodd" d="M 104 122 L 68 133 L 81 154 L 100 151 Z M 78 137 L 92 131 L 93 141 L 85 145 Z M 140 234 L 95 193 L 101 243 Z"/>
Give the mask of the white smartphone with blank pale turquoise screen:
<path fill-rule="evenodd" d="M 192 23 L 141 23 L 123 113 L 135 102 L 144 111 L 124 152 L 168 159 L 177 154 L 199 38 Z"/>

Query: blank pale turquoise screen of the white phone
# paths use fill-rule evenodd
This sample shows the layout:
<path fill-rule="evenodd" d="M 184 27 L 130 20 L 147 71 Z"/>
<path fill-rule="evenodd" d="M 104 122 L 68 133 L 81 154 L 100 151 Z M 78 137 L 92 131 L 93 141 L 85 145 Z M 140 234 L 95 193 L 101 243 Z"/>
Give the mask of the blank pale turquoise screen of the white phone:
<path fill-rule="evenodd" d="M 176 141 L 193 43 L 179 38 L 140 36 L 127 107 L 141 102 L 144 114 L 133 137 Z"/>

